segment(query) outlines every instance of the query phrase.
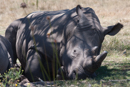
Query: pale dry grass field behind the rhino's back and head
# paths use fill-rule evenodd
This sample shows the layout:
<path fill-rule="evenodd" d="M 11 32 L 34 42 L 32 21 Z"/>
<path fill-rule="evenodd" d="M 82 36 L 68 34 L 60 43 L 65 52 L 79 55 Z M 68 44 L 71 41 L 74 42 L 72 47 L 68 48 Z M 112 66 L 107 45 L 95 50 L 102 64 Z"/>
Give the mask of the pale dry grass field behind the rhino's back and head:
<path fill-rule="evenodd" d="M 22 2 L 27 3 L 27 8 L 20 8 Z M 0 1 L 0 34 L 4 35 L 5 29 L 15 19 L 26 16 L 34 11 L 44 10 L 62 10 L 72 9 L 80 4 L 83 7 L 91 7 L 98 15 L 101 24 L 108 26 L 117 22 L 124 24 L 124 29 L 116 36 L 107 36 L 103 50 L 109 52 L 106 60 L 114 60 L 118 57 L 129 57 L 129 39 L 130 39 L 130 0 L 38 0 L 38 8 L 36 7 L 37 0 L 1 0 Z M 112 42 L 114 39 L 118 41 Z M 113 44 L 113 46 L 111 46 Z M 123 45 L 122 45 L 123 44 Z M 118 46 L 117 46 L 118 45 Z M 122 47 L 124 46 L 124 47 Z M 109 49 L 114 47 L 113 49 Z M 127 49 L 128 55 L 124 56 L 121 53 Z"/>

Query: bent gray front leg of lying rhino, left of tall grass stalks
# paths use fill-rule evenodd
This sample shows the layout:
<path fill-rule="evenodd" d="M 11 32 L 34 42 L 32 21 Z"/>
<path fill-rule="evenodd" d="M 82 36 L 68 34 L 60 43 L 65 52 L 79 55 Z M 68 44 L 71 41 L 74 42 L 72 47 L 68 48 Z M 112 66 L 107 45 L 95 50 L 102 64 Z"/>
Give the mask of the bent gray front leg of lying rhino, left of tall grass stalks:
<path fill-rule="evenodd" d="M 24 74 L 31 82 L 39 81 L 39 77 L 40 79 L 46 79 L 42 70 L 41 58 L 41 55 L 35 50 L 28 50 Z"/>

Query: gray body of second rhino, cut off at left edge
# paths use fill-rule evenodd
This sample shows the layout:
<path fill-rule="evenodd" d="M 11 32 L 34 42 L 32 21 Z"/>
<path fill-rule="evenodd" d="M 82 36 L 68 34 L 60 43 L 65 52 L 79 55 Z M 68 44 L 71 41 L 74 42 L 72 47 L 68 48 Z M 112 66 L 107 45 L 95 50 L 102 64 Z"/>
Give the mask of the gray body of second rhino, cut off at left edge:
<path fill-rule="evenodd" d="M 0 35 L 0 74 L 6 72 L 13 65 L 13 51 L 11 43 Z"/>

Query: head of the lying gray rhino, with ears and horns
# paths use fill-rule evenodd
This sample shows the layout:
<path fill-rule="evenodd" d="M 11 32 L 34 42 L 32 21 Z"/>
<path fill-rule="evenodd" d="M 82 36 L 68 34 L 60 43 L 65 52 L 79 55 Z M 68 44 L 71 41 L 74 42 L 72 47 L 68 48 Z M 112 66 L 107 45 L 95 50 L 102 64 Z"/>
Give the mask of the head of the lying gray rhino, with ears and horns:
<path fill-rule="evenodd" d="M 76 13 L 78 23 L 67 38 L 61 59 L 67 79 L 93 77 L 107 56 L 107 51 L 100 53 L 104 37 L 117 34 L 123 27 L 117 23 L 103 28 L 94 11 L 85 14 L 80 5 Z"/>

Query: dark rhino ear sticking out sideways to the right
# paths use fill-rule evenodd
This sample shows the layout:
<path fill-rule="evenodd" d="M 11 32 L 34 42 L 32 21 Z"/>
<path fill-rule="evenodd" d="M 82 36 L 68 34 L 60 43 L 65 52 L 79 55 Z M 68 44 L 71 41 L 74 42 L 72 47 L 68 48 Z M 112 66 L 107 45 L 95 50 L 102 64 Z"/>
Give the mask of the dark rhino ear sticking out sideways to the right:
<path fill-rule="evenodd" d="M 121 30 L 121 28 L 123 28 L 123 25 L 121 23 L 117 23 L 113 26 L 108 26 L 107 28 L 104 28 L 103 33 L 104 35 L 108 34 L 114 36 Z"/>

